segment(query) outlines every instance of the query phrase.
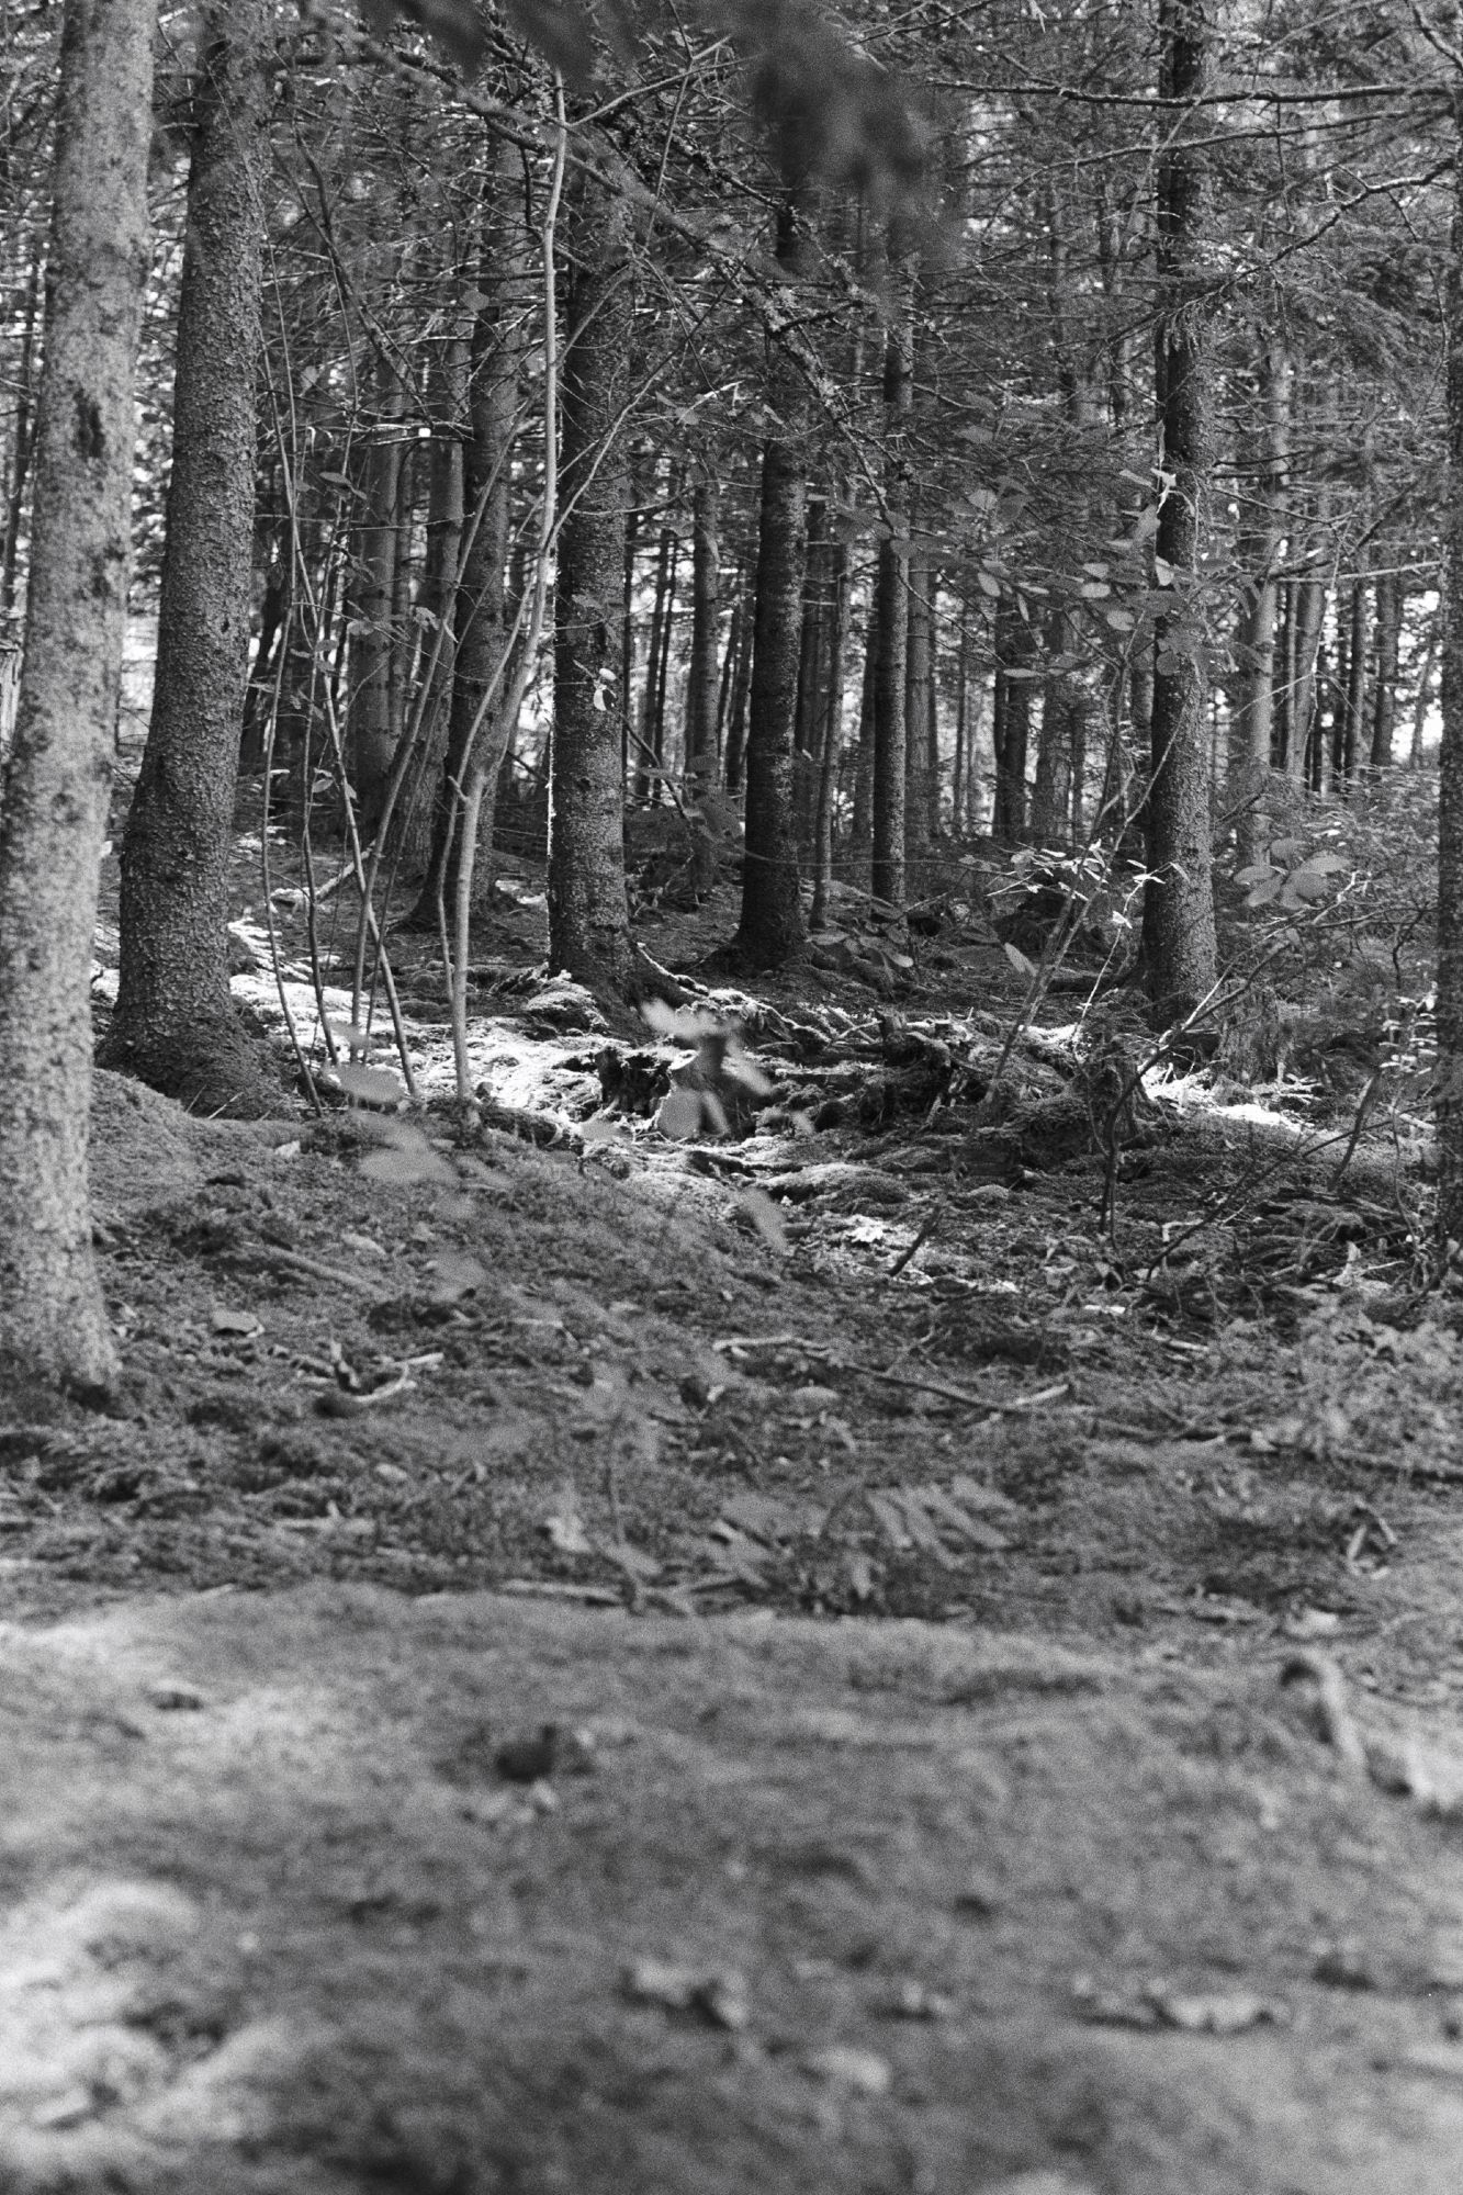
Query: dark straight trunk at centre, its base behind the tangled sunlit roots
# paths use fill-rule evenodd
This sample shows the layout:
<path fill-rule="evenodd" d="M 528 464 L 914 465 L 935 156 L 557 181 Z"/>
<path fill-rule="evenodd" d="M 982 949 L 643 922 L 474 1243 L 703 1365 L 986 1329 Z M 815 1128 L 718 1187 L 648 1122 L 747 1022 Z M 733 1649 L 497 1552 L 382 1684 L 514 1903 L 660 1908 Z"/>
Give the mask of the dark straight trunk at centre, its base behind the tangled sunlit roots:
<path fill-rule="evenodd" d="M 780 248 L 791 248 L 791 222 L 784 222 Z M 742 920 L 736 933 L 736 948 L 753 968 L 782 968 L 802 950 L 806 935 L 793 836 L 793 731 L 808 553 L 808 483 L 800 437 L 802 386 L 791 360 L 773 358 L 771 386 L 771 413 L 780 428 L 762 450 L 747 727 L 747 849 Z"/>

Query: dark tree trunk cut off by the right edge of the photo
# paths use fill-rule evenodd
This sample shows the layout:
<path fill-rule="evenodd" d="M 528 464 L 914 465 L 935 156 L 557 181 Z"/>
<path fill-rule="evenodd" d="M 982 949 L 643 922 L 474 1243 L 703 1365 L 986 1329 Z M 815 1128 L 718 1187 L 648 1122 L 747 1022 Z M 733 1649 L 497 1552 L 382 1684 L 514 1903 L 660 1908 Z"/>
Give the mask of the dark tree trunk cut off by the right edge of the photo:
<path fill-rule="evenodd" d="M 1452 110 L 1454 132 L 1463 136 L 1463 72 L 1454 77 Z M 1448 338 L 1448 505 L 1439 606 L 1443 744 L 1437 849 L 1437 1229 L 1439 1245 L 1445 1251 L 1454 1245 L 1456 1258 L 1456 1245 L 1463 1245 L 1463 162 L 1454 162 Z"/>

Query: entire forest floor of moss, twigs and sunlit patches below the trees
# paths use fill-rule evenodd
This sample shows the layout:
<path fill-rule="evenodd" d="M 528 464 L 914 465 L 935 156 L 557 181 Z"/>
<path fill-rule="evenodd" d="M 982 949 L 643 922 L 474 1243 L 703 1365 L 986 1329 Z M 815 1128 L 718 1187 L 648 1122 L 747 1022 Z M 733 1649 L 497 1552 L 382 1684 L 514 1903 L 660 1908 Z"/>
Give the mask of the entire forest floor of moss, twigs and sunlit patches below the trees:
<path fill-rule="evenodd" d="M 0 1411 L 0 2184 L 1456 2195 L 1406 1152 L 1195 1078 L 1112 1166 L 1052 1010 L 993 1104 L 978 920 L 703 975 L 775 1104 L 666 1135 L 514 898 L 488 1126 L 406 942 L 406 1144 L 99 1078 L 123 1394 Z"/>

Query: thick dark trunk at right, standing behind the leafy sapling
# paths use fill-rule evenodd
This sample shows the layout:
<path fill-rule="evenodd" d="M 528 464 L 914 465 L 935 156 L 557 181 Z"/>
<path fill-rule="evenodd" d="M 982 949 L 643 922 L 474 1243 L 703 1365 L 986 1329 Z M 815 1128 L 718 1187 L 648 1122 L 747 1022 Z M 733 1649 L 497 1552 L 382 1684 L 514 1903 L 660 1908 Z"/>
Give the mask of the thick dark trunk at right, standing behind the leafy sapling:
<path fill-rule="evenodd" d="M 1199 99 L 1208 77 L 1202 0 L 1160 0 L 1160 94 Z M 1206 154 L 1188 143 L 1186 121 L 1169 125 L 1158 154 L 1158 410 L 1162 468 L 1171 476 L 1158 514 L 1155 553 L 1180 590 L 1197 586 L 1208 503 L 1210 367 L 1204 320 Z M 1149 781 L 1149 869 L 1142 946 L 1149 997 L 1160 1025 L 1188 1014 L 1217 979 L 1215 893 L 1210 882 L 1210 795 L 1206 773 L 1206 694 L 1191 639 L 1195 608 L 1184 595 L 1158 626 L 1153 656 L 1153 775 Z"/>

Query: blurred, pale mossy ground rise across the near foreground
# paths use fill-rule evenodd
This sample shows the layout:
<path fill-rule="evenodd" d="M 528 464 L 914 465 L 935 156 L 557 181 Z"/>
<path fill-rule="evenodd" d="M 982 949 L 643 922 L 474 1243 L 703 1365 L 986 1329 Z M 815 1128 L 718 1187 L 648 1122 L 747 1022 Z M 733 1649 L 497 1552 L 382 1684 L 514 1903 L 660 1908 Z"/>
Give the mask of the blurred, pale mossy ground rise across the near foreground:
<path fill-rule="evenodd" d="M 1456 2191 L 1459 1831 L 1272 1648 L 305 1587 L 0 1666 L 7 2188 Z"/>

